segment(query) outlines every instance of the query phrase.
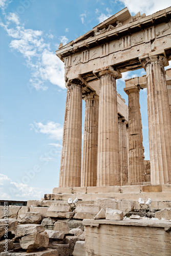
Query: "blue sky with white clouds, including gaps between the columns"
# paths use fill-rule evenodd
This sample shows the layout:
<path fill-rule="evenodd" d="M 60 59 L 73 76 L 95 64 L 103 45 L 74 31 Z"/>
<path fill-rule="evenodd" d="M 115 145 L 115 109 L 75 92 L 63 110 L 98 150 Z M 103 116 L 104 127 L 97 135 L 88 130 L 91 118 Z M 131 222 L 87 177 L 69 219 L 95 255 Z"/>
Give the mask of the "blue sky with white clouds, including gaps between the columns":
<path fill-rule="evenodd" d="M 0 200 L 40 200 L 58 186 L 67 90 L 55 51 L 60 42 L 67 44 L 126 6 L 131 15 L 149 15 L 170 1 L 0 0 Z M 144 74 L 143 69 L 125 72 L 117 80 L 126 103 L 124 79 Z M 146 97 L 141 90 L 149 160 Z"/>

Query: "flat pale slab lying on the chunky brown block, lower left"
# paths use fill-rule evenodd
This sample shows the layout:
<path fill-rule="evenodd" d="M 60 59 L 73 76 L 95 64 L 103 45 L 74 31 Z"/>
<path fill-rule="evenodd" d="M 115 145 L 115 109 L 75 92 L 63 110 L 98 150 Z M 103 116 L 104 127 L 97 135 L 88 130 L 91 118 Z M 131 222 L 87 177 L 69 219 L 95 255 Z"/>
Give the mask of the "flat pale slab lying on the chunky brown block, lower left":
<path fill-rule="evenodd" d="M 17 226 L 17 236 L 18 237 L 24 237 L 28 234 L 34 234 L 34 233 L 40 233 L 45 231 L 45 228 L 42 225 L 38 224 L 23 224 Z"/>

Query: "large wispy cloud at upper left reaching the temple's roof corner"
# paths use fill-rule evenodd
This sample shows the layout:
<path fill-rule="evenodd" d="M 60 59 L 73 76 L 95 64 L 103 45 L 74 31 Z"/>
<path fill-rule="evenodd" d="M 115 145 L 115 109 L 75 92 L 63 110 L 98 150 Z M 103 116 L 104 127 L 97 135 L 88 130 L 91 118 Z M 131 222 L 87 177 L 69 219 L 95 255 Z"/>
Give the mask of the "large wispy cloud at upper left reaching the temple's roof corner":
<path fill-rule="evenodd" d="M 53 35 L 44 35 L 40 30 L 25 29 L 15 13 L 4 15 L 7 21 L 0 22 L 0 26 L 12 38 L 9 47 L 22 54 L 31 69 L 29 90 L 31 88 L 47 90 L 46 81 L 64 89 L 64 64 L 54 52 L 50 51 L 50 44 L 45 41 L 47 37 L 52 39 Z M 61 36 L 61 41 L 66 44 L 68 38 Z"/>

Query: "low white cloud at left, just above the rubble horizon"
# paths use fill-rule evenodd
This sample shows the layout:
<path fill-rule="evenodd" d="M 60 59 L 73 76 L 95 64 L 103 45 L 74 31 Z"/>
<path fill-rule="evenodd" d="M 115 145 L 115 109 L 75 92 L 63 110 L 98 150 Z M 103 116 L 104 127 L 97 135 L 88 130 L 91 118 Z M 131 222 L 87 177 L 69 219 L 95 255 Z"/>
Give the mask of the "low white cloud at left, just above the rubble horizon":
<path fill-rule="evenodd" d="M 25 173 L 22 179 L 30 181 L 30 177 Z M 3 174 L 0 174 L 0 185 L 1 200 L 40 200 L 45 193 L 51 191 L 49 188 L 31 187 L 19 180 L 13 182 L 8 176 Z"/>

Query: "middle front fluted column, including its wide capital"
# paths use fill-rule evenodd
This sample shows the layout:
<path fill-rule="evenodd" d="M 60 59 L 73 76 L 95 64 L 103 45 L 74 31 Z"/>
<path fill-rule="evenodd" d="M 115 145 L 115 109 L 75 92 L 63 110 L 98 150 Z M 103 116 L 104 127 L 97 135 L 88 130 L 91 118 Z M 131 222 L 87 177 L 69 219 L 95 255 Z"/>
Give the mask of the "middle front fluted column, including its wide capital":
<path fill-rule="evenodd" d="M 99 125 L 97 150 L 97 186 L 120 185 L 119 129 L 116 78 L 112 68 L 99 72 Z"/>

